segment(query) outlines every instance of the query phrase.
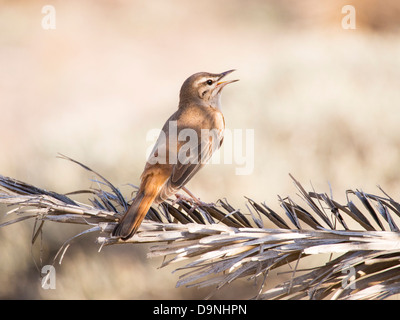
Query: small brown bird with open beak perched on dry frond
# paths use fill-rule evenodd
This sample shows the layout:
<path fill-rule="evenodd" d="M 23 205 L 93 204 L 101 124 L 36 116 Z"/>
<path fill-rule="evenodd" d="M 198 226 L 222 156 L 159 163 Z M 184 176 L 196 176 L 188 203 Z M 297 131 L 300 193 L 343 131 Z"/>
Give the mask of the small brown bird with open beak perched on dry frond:
<path fill-rule="evenodd" d="M 150 206 L 175 195 L 221 146 L 225 130 L 221 91 L 238 81 L 221 79 L 233 71 L 199 72 L 183 83 L 178 110 L 162 128 L 141 175 L 139 191 L 113 236 L 130 238 Z"/>

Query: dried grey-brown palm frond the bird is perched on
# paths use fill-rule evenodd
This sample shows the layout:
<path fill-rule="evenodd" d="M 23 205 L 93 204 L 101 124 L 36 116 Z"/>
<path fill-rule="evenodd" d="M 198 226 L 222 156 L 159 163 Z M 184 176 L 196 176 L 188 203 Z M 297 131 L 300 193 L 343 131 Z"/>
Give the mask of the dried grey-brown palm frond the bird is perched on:
<path fill-rule="evenodd" d="M 212 285 L 218 289 L 246 277 L 262 279 L 258 299 L 382 299 L 400 292 L 400 233 L 396 224 L 400 204 L 383 190 L 383 196 L 347 190 L 347 203 L 340 204 L 326 193 L 306 192 L 292 177 L 305 205 L 289 197 L 279 198 L 284 214 L 250 198 L 248 214 L 227 200 L 198 206 L 181 199 L 151 208 L 139 231 L 121 241 L 110 234 L 128 201 L 109 181 L 80 165 L 99 177 L 98 185 L 110 190 L 61 195 L 0 176 L 0 203 L 15 207 L 9 214 L 17 216 L 0 226 L 35 219 L 39 227 L 33 242 L 45 221 L 55 221 L 87 225 L 89 228 L 79 235 L 101 233 L 101 246 L 154 243 L 149 256 L 165 257 L 162 266 L 186 261 L 176 270 L 183 273 L 177 286 Z M 90 194 L 91 204 L 71 198 L 80 193 Z M 265 228 L 265 219 L 277 228 Z M 331 258 L 311 270 L 298 270 L 301 259 L 321 254 Z M 291 263 L 296 267 L 288 281 L 264 288 L 270 270 Z"/>

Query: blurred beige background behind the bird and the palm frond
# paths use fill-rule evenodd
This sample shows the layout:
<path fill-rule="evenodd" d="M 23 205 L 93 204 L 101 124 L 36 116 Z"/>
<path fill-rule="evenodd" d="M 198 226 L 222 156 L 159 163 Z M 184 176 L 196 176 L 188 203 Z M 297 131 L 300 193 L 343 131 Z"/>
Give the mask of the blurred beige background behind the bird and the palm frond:
<path fill-rule="evenodd" d="M 355 30 L 342 7 L 356 9 Z M 400 191 L 400 5 L 397 1 L 0 1 L 0 174 L 60 193 L 93 176 L 137 184 L 146 133 L 175 110 L 182 82 L 198 71 L 237 69 L 223 93 L 227 128 L 254 129 L 254 171 L 212 164 L 189 184 L 202 200 L 244 196 L 279 210 L 296 199 L 288 173 L 342 201 L 345 190 L 394 198 Z M 44 30 L 45 5 L 56 29 Z M 1 220 L 6 208 L 0 207 Z M 147 247 L 97 252 L 76 241 L 57 265 L 56 290 L 40 287 L 48 264 L 79 226 L 47 224 L 32 250 L 32 223 L 0 230 L 0 298 L 191 299 L 211 288 L 175 289 Z M 40 253 L 40 250 L 42 253 Z M 33 253 L 31 252 L 33 251 Z M 34 259 L 33 259 L 34 257 Z M 41 259 L 41 261 L 40 261 Z M 283 275 L 288 277 L 289 275 Z M 279 277 L 270 278 L 271 283 Z M 238 281 L 214 298 L 243 298 L 260 283 Z"/>

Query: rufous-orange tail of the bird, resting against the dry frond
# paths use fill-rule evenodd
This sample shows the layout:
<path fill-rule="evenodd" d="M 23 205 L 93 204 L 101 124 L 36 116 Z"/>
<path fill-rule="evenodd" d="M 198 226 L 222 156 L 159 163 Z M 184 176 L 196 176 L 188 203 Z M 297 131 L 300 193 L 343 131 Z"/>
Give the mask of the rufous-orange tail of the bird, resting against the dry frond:
<path fill-rule="evenodd" d="M 145 193 L 144 191 L 139 190 L 128 211 L 113 230 L 112 235 L 120 237 L 122 240 L 126 240 L 133 236 L 137 229 L 139 229 L 140 224 L 149 211 L 156 196 L 157 192 Z"/>

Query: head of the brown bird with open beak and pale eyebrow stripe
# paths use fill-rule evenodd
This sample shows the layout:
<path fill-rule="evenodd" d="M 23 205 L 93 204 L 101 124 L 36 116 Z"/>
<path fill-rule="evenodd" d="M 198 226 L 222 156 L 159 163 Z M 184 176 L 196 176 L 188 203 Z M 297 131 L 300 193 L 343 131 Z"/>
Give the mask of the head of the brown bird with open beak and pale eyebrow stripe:
<path fill-rule="evenodd" d="M 221 109 L 221 91 L 229 83 L 238 80 L 222 81 L 222 79 L 235 71 L 229 70 L 222 73 L 199 72 L 185 80 L 180 92 L 179 107 L 188 103 L 197 103 Z"/>

